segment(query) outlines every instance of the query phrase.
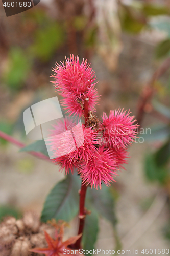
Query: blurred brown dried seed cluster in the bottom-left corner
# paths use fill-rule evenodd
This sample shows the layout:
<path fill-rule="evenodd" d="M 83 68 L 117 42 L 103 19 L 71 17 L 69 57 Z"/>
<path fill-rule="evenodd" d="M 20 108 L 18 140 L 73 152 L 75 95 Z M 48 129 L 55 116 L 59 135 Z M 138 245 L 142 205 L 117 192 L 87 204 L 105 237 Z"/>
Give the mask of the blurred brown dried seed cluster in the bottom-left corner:
<path fill-rule="evenodd" d="M 5 218 L 0 224 L 0 256 L 40 255 L 29 250 L 47 245 L 44 231 L 52 237 L 55 235 L 55 228 L 40 223 L 39 218 L 33 212 L 26 212 L 19 220 L 14 217 Z"/>

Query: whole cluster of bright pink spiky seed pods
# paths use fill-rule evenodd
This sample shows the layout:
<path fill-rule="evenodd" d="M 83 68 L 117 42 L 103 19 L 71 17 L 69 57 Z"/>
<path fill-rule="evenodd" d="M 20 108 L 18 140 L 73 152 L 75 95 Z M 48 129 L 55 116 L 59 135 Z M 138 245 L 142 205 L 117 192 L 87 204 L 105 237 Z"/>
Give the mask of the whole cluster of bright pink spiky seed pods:
<path fill-rule="evenodd" d="M 61 104 L 70 115 L 84 116 L 83 135 L 81 127 L 74 124 L 70 118 L 65 117 L 64 122 L 57 122 L 51 131 L 51 150 L 54 162 L 60 169 L 69 170 L 81 175 L 84 183 L 101 188 L 102 182 L 107 186 L 115 181 L 123 164 L 127 163 L 127 148 L 136 138 L 138 125 L 134 116 L 124 110 L 110 111 L 109 117 L 104 113 L 101 122 L 92 112 L 99 100 L 94 88 L 95 76 L 87 60 L 79 63 L 79 57 L 70 55 L 65 63 L 54 68 L 54 86 L 63 96 Z M 73 127 L 76 132 L 71 132 Z M 57 141 L 55 134 L 62 133 Z M 72 136 L 74 140 L 72 140 Z M 84 138 L 82 138 L 84 137 Z M 57 137 L 58 138 L 58 137 Z M 79 141 L 84 143 L 78 146 Z M 61 153 L 61 154 L 60 154 Z"/>

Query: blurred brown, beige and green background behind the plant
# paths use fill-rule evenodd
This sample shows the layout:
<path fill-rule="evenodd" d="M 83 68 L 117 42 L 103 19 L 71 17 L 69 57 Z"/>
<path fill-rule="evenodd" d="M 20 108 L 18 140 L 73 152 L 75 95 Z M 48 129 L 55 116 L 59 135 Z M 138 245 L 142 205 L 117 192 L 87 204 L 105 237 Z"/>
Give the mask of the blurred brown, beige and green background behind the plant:
<path fill-rule="evenodd" d="M 169 0 L 41 0 L 10 17 L 0 2 L 1 131 L 33 142 L 23 111 L 58 96 L 52 68 L 70 54 L 87 58 L 96 73 L 98 117 L 125 108 L 141 125 L 127 170 L 112 184 L 125 250 L 170 247 L 169 15 Z M 63 177 L 57 166 L 0 138 L 0 219 L 29 209 L 40 215 L 47 193 Z M 96 248 L 113 249 L 113 237 L 101 219 Z"/>

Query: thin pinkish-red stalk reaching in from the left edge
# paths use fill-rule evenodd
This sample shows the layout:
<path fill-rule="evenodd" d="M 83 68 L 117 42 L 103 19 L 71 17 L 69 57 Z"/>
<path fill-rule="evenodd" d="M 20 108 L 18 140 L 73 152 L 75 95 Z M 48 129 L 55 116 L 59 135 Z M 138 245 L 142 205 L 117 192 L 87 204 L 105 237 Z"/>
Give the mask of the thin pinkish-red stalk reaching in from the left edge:
<path fill-rule="evenodd" d="M 20 142 L 19 140 L 14 139 L 12 136 L 10 136 L 2 131 L 0 131 L 0 138 L 7 140 L 8 142 L 18 146 L 19 148 L 26 146 L 24 143 Z M 47 156 L 45 156 L 44 154 L 42 154 L 40 152 L 28 151 L 28 153 L 34 157 L 38 157 L 40 159 L 50 161 L 50 159 Z"/>

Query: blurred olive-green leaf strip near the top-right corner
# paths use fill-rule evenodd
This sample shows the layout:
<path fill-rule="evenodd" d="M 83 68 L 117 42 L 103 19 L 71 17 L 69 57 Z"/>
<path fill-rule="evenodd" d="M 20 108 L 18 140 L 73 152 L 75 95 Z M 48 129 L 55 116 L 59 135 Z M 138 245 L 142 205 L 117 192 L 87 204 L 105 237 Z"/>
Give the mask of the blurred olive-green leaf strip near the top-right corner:
<path fill-rule="evenodd" d="M 169 9 L 165 6 L 144 4 L 143 12 L 147 16 L 157 16 L 169 14 Z"/>

